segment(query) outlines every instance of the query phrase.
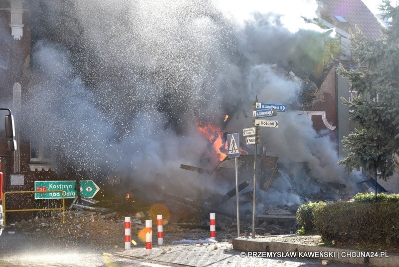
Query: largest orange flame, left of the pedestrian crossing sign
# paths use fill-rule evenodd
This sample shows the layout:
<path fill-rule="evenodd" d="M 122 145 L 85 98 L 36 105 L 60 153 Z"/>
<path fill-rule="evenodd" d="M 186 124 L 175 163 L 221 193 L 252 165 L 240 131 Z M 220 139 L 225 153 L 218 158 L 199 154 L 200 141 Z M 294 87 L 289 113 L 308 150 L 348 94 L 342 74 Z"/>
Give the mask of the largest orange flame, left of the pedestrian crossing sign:
<path fill-rule="evenodd" d="M 219 161 L 223 161 L 225 157 L 227 157 L 227 154 L 222 152 L 222 149 L 227 151 L 227 143 L 223 143 L 223 132 L 221 129 L 213 124 L 204 126 L 202 126 L 200 122 L 197 122 L 196 124 L 200 133 L 202 133 L 209 143 L 212 144 L 212 148 L 216 152 Z"/>

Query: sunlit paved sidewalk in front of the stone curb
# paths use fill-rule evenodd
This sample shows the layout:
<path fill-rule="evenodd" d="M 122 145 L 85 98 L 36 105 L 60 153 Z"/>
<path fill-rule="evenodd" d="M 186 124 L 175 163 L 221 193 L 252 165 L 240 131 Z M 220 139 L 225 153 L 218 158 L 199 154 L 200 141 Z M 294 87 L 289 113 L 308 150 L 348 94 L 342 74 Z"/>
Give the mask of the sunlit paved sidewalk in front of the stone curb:
<path fill-rule="evenodd" d="M 217 247 L 215 247 L 217 246 Z M 158 247 L 154 244 L 153 254 L 145 255 L 145 248 L 133 247 L 113 255 L 150 260 L 153 263 L 171 263 L 183 266 L 226 266 L 226 267 L 320 267 L 321 260 L 307 258 L 256 258 L 240 256 L 243 252 L 234 250 L 226 242 L 216 244 L 179 244 Z M 329 267 L 353 267 L 352 264 L 329 262 Z"/>

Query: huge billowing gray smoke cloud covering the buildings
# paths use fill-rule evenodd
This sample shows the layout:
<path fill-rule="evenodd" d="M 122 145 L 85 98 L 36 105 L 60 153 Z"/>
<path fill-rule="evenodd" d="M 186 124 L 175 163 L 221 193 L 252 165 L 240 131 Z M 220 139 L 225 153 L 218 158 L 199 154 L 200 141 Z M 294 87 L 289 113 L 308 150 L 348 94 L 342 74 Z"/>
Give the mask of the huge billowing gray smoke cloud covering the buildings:
<path fill-rule="evenodd" d="M 262 6 L 239 17 L 222 4 L 41 0 L 31 6 L 34 75 L 26 117 L 56 148 L 59 170 L 83 165 L 94 179 L 118 175 L 128 186 L 156 184 L 189 195 L 212 187 L 179 168 L 200 165 L 208 141 L 197 121 L 220 126 L 238 102 L 250 115 L 255 95 L 297 101 L 300 83 L 278 76 L 271 64 L 312 58 L 327 33 L 303 18 L 307 29 L 293 31 L 287 21 L 299 10 L 284 16 Z M 314 13 L 311 2 L 301 5 Z M 261 134 L 268 153 L 282 162 L 308 161 L 320 180 L 345 177 L 334 146 L 307 116 L 288 110 L 278 120 L 278 129 Z M 251 124 L 251 117 L 234 115 L 225 130 Z"/>

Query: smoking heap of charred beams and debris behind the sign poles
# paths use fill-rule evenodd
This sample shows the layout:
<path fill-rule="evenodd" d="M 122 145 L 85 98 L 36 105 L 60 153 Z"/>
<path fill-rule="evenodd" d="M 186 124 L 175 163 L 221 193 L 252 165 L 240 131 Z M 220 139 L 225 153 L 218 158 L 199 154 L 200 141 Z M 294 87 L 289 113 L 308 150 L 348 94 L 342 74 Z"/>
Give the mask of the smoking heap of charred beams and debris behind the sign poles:
<path fill-rule="evenodd" d="M 301 204 L 315 201 L 335 201 L 350 196 L 346 185 L 336 182 L 323 182 L 311 175 L 307 162 L 278 163 L 278 157 L 266 155 L 263 147 L 262 155 L 258 157 L 259 193 L 257 206 L 262 209 L 256 216 L 256 231 L 258 234 L 287 234 L 297 230 L 296 211 Z M 212 181 L 229 182 L 231 189 L 225 194 L 200 192 L 192 199 L 164 195 L 165 199 L 173 200 L 179 205 L 189 206 L 192 210 L 201 212 L 204 216 L 210 212 L 235 219 L 234 201 L 235 186 L 234 163 L 225 158 L 213 171 L 205 171 L 200 167 L 181 165 L 182 169 L 196 171 L 199 179 L 210 176 Z M 238 173 L 241 182 L 238 185 L 240 218 L 242 222 L 250 222 L 252 206 L 253 155 L 241 155 L 238 158 Z M 276 195 L 280 197 L 276 197 Z M 284 197 L 283 197 L 284 196 Z M 248 225 L 249 226 L 249 225 Z M 250 230 L 244 224 L 244 231 Z"/>

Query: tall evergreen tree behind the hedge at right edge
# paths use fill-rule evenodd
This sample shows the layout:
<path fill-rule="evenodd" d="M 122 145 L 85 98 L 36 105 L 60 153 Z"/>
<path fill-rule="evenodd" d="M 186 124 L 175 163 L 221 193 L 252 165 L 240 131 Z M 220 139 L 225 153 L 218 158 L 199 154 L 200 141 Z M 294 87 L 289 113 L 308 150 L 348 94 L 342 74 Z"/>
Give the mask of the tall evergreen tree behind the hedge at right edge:
<path fill-rule="evenodd" d="M 383 30 L 379 40 L 369 40 L 357 27 L 352 34 L 356 68 L 341 66 L 339 74 L 348 78 L 357 97 L 344 104 L 354 112 L 349 120 L 361 130 L 344 137 L 348 156 L 338 162 L 345 170 L 363 167 L 370 173 L 381 171 L 387 179 L 397 166 L 399 154 L 399 7 L 384 0 L 380 9 L 391 18 L 391 26 Z"/>

